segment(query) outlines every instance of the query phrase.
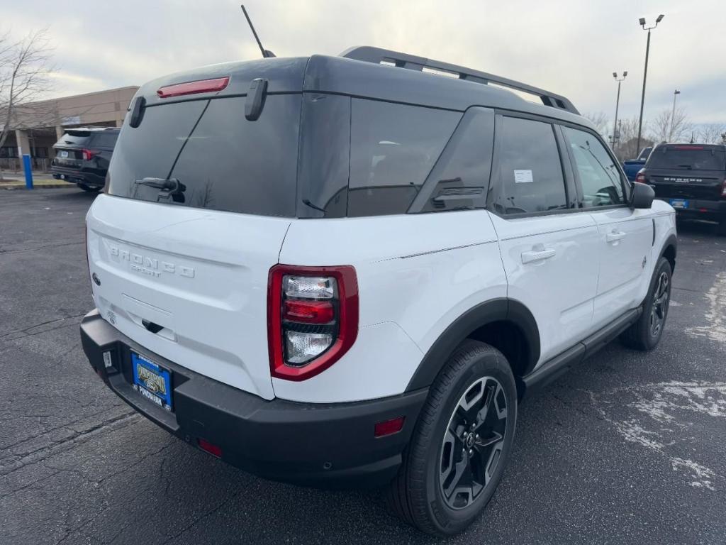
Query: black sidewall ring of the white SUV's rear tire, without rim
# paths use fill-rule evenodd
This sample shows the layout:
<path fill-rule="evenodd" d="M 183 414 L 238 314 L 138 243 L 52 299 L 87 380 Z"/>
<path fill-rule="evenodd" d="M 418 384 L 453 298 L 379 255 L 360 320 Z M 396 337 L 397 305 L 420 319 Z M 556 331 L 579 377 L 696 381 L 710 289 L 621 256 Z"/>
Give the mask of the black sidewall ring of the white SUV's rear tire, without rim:
<path fill-rule="evenodd" d="M 481 344 L 480 344 L 481 345 Z M 486 346 L 486 345 L 481 345 Z M 444 403 L 437 408 L 436 419 L 433 421 L 432 444 L 429 445 L 425 460 L 425 498 L 429 515 L 441 533 L 457 533 L 466 528 L 481 513 L 486 504 L 497 490 L 499 480 L 507 465 L 514 440 L 517 417 L 517 393 L 514 378 L 504 356 L 490 347 L 486 352 L 473 351 L 469 356 L 470 362 L 460 370 L 456 378 L 449 384 Z M 438 467 L 441 459 L 444 431 L 449 425 L 454 407 L 462 395 L 477 379 L 492 376 L 502 384 L 507 397 L 507 428 L 505 432 L 505 445 L 499 458 L 497 469 L 487 488 L 466 509 L 452 509 L 441 494 L 439 486 Z"/>

